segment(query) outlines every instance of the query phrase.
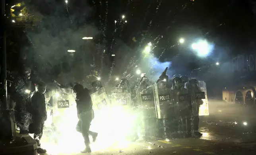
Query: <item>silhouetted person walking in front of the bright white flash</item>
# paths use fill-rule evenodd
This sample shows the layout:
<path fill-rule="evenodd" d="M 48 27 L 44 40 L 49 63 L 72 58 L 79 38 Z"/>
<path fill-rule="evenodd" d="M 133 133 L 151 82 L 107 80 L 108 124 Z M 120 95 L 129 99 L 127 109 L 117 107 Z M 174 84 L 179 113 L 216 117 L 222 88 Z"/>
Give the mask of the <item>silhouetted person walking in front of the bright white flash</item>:
<path fill-rule="evenodd" d="M 86 148 L 81 151 L 81 153 L 91 152 L 89 135 L 93 137 L 93 142 L 95 142 L 97 133 L 90 131 L 91 121 L 94 118 L 94 113 L 92 109 L 91 96 L 87 88 L 83 89 L 83 86 L 77 84 L 72 90 L 73 95 L 76 98 L 76 107 L 78 112 L 78 125 L 77 129 L 81 131 Z"/>

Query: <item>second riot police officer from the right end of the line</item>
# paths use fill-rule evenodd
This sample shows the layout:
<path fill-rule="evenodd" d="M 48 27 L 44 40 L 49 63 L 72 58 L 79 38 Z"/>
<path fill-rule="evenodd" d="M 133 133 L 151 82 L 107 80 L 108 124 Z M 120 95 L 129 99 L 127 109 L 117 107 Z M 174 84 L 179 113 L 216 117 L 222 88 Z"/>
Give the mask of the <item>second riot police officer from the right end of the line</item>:
<path fill-rule="evenodd" d="M 185 137 L 191 136 L 190 124 L 190 104 L 188 99 L 188 90 L 184 88 L 182 79 L 180 77 L 173 78 L 173 95 L 177 105 L 177 115 L 179 118 L 179 130 Z"/>

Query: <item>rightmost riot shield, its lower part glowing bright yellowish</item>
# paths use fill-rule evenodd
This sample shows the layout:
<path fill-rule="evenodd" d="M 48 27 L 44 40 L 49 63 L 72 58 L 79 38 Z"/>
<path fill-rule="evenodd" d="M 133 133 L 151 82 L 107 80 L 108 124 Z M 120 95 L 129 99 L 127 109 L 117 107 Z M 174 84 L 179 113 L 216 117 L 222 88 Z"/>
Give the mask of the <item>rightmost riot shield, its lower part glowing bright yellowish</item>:
<path fill-rule="evenodd" d="M 206 90 L 206 83 L 204 81 L 198 81 L 198 85 L 202 92 L 204 92 L 205 99 L 203 100 L 203 104 L 199 108 L 199 115 L 200 116 L 207 116 L 209 115 L 209 107 L 208 107 L 208 98 L 207 98 L 207 90 Z"/>

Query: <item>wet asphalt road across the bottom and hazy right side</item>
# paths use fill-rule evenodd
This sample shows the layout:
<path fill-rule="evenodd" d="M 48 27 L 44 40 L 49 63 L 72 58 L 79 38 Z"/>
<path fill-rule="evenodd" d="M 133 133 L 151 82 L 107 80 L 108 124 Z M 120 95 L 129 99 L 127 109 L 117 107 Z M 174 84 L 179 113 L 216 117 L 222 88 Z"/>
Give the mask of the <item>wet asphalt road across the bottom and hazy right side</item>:
<path fill-rule="evenodd" d="M 200 117 L 201 138 L 155 139 L 84 153 L 91 155 L 255 155 L 255 107 L 210 101 L 210 115 Z M 83 153 L 74 153 L 83 155 Z"/>

